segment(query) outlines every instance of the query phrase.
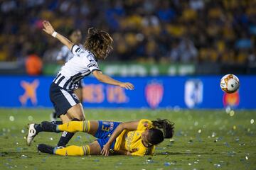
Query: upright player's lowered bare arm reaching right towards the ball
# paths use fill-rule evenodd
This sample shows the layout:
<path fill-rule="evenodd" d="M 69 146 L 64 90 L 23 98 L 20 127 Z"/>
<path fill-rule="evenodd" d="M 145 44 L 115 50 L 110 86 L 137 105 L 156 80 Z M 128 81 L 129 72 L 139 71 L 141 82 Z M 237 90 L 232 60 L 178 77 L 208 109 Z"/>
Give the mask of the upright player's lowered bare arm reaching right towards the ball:
<path fill-rule="evenodd" d="M 105 84 L 112 84 L 115 86 L 120 86 L 122 88 L 125 89 L 129 89 L 129 90 L 133 90 L 134 89 L 134 85 L 129 83 L 129 82 L 121 82 L 121 81 L 117 81 L 115 79 L 112 79 L 111 77 L 102 74 L 102 72 L 95 70 L 94 72 L 92 72 L 92 74 L 96 77 L 97 80 L 101 81 L 102 83 Z"/>

